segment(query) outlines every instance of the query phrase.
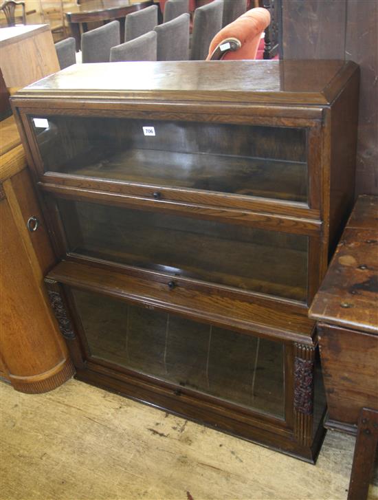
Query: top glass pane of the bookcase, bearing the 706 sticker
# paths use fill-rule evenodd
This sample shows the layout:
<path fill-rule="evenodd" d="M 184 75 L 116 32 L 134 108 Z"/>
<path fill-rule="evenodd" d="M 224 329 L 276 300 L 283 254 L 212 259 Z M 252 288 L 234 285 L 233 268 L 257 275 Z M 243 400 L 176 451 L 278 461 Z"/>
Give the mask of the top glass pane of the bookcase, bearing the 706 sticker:
<path fill-rule="evenodd" d="M 45 171 L 307 202 L 304 129 L 78 116 L 31 123 Z"/>

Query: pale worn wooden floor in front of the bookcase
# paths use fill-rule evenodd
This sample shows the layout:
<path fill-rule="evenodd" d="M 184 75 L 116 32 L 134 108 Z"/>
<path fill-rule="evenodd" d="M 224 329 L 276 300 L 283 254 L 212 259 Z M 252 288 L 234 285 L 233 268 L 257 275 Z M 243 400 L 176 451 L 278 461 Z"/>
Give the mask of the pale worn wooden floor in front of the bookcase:
<path fill-rule="evenodd" d="M 42 395 L 1 382 L 0 396 L 1 500 L 346 499 L 340 433 L 311 466 L 76 380 Z"/>

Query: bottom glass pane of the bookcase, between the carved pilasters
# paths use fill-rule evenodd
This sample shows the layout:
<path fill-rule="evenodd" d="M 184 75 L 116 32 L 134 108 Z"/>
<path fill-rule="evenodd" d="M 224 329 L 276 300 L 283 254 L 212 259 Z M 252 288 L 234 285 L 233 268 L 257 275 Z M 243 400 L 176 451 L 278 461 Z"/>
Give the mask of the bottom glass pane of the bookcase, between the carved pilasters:
<path fill-rule="evenodd" d="M 72 290 L 91 356 L 284 417 L 282 344 Z"/>

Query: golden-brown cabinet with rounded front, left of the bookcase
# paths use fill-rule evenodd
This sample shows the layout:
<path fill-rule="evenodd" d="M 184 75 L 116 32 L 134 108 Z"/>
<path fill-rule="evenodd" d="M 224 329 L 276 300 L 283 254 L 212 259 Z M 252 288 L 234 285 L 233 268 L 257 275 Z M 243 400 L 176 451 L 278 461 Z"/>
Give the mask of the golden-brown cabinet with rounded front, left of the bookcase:
<path fill-rule="evenodd" d="M 74 367 L 43 286 L 55 257 L 14 119 L 0 130 L 0 375 L 17 391 L 40 393 Z"/>

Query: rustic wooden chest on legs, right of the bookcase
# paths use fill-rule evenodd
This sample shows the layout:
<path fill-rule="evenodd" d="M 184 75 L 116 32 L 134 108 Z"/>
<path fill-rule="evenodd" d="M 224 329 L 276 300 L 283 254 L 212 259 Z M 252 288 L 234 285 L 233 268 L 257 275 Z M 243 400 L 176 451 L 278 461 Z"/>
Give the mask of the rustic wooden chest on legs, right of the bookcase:
<path fill-rule="evenodd" d="M 348 500 L 368 497 L 378 444 L 377 216 L 378 197 L 359 196 L 310 309 L 325 376 L 324 425 L 357 434 Z"/>

